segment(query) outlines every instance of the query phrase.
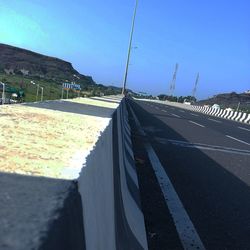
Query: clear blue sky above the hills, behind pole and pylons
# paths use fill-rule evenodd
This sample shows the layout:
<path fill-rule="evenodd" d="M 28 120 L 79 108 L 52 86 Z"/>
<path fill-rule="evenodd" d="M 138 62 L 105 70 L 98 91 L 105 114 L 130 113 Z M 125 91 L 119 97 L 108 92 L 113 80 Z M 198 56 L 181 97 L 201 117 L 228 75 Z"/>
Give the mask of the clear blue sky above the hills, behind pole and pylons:
<path fill-rule="evenodd" d="M 70 61 L 121 86 L 134 0 L 1 0 L 0 42 Z M 139 0 L 128 88 L 199 99 L 250 89 L 250 1 Z"/>

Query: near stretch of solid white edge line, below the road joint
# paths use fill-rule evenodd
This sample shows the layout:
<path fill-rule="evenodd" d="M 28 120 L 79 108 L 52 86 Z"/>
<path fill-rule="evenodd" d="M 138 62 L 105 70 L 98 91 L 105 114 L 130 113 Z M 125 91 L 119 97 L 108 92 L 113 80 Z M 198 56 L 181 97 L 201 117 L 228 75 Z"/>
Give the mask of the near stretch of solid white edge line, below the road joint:
<path fill-rule="evenodd" d="M 174 186 L 149 143 L 145 144 L 151 165 L 160 184 L 165 202 L 173 217 L 176 230 L 184 249 L 205 249 L 190 217 L 188 216 Z"/>

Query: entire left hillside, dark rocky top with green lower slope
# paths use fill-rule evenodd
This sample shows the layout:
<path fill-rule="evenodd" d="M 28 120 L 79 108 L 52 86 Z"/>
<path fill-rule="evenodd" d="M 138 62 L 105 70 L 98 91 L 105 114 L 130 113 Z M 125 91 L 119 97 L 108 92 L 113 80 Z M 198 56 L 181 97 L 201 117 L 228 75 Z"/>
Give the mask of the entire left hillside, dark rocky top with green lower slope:
<path fill-rule="evenodd" d="M 64 82 L 79 84 L 81 97 L 121 93 L 121 88 L 96 84 L 91 76 L 80 74 L 69 62 L 1 43 L 0 81 L 6 84 L 7 98 L 11 97 L 13 91 L 10 89 L 12 88 L 12 90 L 16 89 L 17 93 L 24 92 L 24 96 L 18 96 L 18 99 L 26 102 L 36 101 L 38 85 L 43 87 L 43 100 L 61 98 L 62 83 Z M 35 84 L 32 84 L 31 81 Z M 1 92 L 2 85 L 0 85 Z M 64 92 L 65 98 L 66 91 Z M 40 100 L 40 94 L 41 88 L 38 100 Z M 69 98 L 76 96 L 78 93 L 69 90 Z"/>

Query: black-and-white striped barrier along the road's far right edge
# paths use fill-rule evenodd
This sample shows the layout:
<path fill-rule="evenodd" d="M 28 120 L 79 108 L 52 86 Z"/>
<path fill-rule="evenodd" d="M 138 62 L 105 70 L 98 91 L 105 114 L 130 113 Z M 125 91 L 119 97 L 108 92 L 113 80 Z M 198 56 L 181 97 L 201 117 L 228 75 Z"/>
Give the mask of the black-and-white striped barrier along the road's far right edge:
<path fill-rule="evenodd" d="M 218 116 L 229 120 L 250 124 L 250 114 L 244 112 L 230 111 L 203 106 L 191 106 L 192 110 L 202 112 L 208 115 Z"/>

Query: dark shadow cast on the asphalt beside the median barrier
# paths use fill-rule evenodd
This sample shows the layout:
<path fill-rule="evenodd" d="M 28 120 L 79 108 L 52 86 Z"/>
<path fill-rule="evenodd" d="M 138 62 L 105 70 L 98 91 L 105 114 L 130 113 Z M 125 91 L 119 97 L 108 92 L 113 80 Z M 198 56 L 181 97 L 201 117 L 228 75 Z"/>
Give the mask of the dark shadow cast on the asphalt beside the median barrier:
<path fill-rule="evenodd" d="M 138 103 L 129 102 L 142 127 L 157 128 L 157 130 L 147 130 L 146 138 L 134 132 L 134 145 L 137 145 L 135 150 L 140 152 L 141 148 L 138 147 L 142 147 L 145 140 L 151 143 L 205 247 L 207 249 L 250 249 L 250 188 L 240 179 L 243 175 L 249 175 L 249 166 L 246 166 L 244 171 L 237 172 L 232 169 L 226 154 L 216 156 L 225 157 L 221 165 L 199 149 L 178 147 L 170 142 L 159 143 L 155 140 L 156 137 L 188 141 Z M 133 126 L 133 120 L 130 119 Z M 240 159 L 242 158 L 239 157 L 239 164 Z M 147 169 L 146 166 L 145 169 Z M 146 225 L 151 228 L 154 223 L 150 219 L 152 209 L 145 203 L 150 202 L 148 194 L 145 193 L 151 192 L 148 185 L 153 183 L 145 181 L 147 179 L 145 173 L 150 174 L 150 171 L 138 169 L 139 178 L 144 180 L 140 188 L 143 207 L 145 208 L 146 205 L 146 211 L 144 211 Z M 250 183 L 250 175 L 248 183 Z M 155 200 L 154 197 L 151 198 L 152 201 Z M 150 204 L 151 207 L 155 205 Z M 157 211 L 157 208 L 154 211 Z M 149 235 L 148 239 L 152 241 Z"/>

